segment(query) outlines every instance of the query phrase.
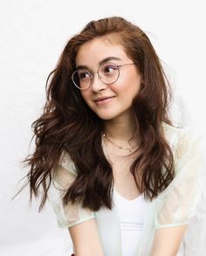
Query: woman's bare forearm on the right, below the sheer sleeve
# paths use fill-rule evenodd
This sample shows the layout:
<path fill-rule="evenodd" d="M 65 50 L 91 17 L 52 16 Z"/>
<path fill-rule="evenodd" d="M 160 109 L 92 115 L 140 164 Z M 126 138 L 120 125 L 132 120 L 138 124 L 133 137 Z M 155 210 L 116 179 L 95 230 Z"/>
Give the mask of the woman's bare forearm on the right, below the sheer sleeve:
<path fill-rule="evenodd" d="M 187 225 L 156 230 L 151 256 L 176 256 Z"/>

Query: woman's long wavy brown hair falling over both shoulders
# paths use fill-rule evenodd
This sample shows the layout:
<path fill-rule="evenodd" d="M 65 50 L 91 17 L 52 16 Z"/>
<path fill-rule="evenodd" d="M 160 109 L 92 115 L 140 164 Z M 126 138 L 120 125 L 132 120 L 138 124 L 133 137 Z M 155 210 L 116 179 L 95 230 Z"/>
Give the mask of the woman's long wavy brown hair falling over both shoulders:
<path fill-rule="evenodd" d="M 71 79 L 79 47 L 100 37 L 121 44 L 143 79 L 141 92 L 133 102 L 141 155 L 130 171 L 138 189 L 152 200 L 174 178 L 173 154 L 162 129 L 162 122 L 171 122 L 167 115 L 170 90 L 161 62 L 148 36 L 138 26 L 122 17 L 107 17 L 86 24 L 68 41 L 46 82 L 44 113 L 33 123 L 36 149 L 25 159 L 30 166 L 27 178 L 31 198 L 43 188 L 40 210 L 63 152 L 69 154 L 77 170 L 76 179 L 66 190 L 64 204 L 81 202 L 92 211 L 102 206 L 112 209 L 113 171 L 101 146 L 102 121 L 86 105 Z M 141 183 L 137 181 L 139 170 Z"/>

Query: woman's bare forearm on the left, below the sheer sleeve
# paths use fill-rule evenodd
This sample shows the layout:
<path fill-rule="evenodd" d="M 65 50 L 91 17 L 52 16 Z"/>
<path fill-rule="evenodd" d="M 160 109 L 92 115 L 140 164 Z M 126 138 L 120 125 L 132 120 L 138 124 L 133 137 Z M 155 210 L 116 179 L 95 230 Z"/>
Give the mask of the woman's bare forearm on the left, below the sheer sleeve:
<path fill-rule="evenodd" d="M 95 218 L 69 228 L 75 256 L 104 256 Z"/>

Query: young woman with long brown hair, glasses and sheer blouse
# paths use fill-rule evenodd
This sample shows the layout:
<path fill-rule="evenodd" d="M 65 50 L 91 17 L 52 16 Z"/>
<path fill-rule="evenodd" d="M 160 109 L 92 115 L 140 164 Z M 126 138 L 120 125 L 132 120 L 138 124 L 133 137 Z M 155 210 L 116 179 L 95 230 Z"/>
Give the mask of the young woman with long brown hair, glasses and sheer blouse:
<path fill-rule="evenodd" d="M 69 40 L 47 81 L 28 156 L 77 256 L 176 255 L 200 195 L 201 154 L 168 119 L 169 86 L 147 35 L 122 17 Z"/>

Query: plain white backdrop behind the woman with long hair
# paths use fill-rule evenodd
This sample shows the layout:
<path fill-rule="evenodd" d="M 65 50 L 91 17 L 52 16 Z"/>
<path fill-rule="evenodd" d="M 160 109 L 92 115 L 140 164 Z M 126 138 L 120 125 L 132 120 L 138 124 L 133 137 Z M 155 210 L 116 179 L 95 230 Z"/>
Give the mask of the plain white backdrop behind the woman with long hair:
<path fill-rule="evenodd" d="M 40 214 L 37 200 L 29 208 L 28 189 L 14 201 L 10 200 L 19 188 L 17 182 L 26 173 L 21 161 L 29 152 L 31 122 L 38 118 L 44 106 L 45 80 L 66 41 L 92 19 L 122 16 L 138 24 L 148 33 L 178 95 L 176 102 L 180 108 L 174 108 L 175 116 L 204 131 L 206 16 L 203 2 L 0 0 L 1 256 L 70 255 L 68 232 L 58 229 L 49 204 Z M 203 245 L 206 225 L 201 225 L 202 231 L 196 225 L 192 232 Z M 203 253 L 203 246 L 197 244 L 196 248 L 199 246 L 197 249 Z"/>

